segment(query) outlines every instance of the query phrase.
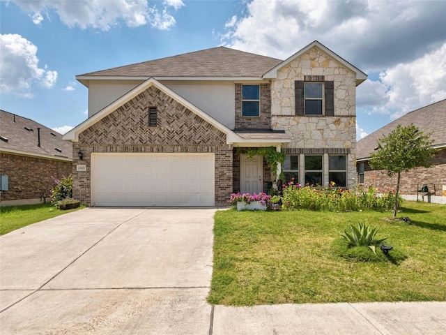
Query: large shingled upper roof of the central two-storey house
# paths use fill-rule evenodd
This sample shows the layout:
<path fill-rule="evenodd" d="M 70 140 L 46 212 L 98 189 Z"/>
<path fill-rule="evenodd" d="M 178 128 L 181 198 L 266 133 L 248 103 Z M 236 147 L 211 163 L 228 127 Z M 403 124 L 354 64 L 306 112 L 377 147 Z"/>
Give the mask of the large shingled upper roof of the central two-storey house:
<path fill-rule="evenodd" d="M 227 47 L 179 54 L 143 63 L 109 68 L 82 76 L 125 77 L 261 77 L 282 61 Z"/>

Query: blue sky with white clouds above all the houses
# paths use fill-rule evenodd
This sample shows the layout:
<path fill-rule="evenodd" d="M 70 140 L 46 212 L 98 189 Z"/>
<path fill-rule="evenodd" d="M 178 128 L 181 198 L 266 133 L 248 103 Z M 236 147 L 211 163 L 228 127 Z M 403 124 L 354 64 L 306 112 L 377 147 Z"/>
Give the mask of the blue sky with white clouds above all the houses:
<path fill-rule="evenodd" d="M 357 138 L 446 98 L 446 1 L 0 0 L 0 108 L 65 133 L 76 75 L 224 45 L 286 59 L 313 40 L 369 75 Z"/>

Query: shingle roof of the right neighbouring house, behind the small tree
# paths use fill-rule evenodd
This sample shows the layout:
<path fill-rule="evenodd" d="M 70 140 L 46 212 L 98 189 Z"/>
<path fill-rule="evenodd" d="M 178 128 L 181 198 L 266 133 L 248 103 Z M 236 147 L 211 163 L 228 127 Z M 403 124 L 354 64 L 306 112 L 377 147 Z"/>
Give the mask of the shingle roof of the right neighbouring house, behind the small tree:
<path fill-rule="evenodd" d="M 367 135 L 362 140 L 357 141 L 356 159 L 369 158 L 370 153 L 377 146 L 378 139 L 383 138 L 392 132 L 397 126 L 410 126 L 413 124 L 424 133 L 432 133 L 431 140 L 437 147 L 446 147 L 446 100 L 438 101 L 419 110 L 414 110 L 399 119 L 378 129 L 374 133 Z"/>

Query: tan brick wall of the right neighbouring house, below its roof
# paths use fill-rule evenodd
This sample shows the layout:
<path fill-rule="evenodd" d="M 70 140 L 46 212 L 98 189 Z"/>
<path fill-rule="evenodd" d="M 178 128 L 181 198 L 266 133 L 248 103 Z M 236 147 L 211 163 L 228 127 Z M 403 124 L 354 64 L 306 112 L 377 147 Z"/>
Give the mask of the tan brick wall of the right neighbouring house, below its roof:
<path fill-rule="evenodd" d="M 446 149 L 438 152 L 431 162 L 433 164 L 431 168 L 420 167 L 401 173 L 401 194 L 416 195 L 417 184 L 419 186 L 420 184 L 435 184 L 436 195 L 442 195 L 442 186 L 446 185 Z M 359 170 L 359 168 L 357 169 Z M 370 185 L 378 188 L 378 191 L 394 190 L 397 186 L 397 176 L 390 178 L 384 170 L 371 170 L 366 162 L 364 165 L 364 186 Z"/>

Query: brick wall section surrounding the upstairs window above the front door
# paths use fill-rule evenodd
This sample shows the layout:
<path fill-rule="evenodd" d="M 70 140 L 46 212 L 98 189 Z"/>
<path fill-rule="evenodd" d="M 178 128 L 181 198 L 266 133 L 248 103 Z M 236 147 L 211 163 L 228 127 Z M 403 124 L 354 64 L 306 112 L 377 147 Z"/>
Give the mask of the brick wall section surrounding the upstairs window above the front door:
<path fill-rule="evenodd" d="M 260 84 L 260 117 L 242 116 L 242 84 L 236 84 L 236 129 L 271 129 L 270 84 Z"/>

